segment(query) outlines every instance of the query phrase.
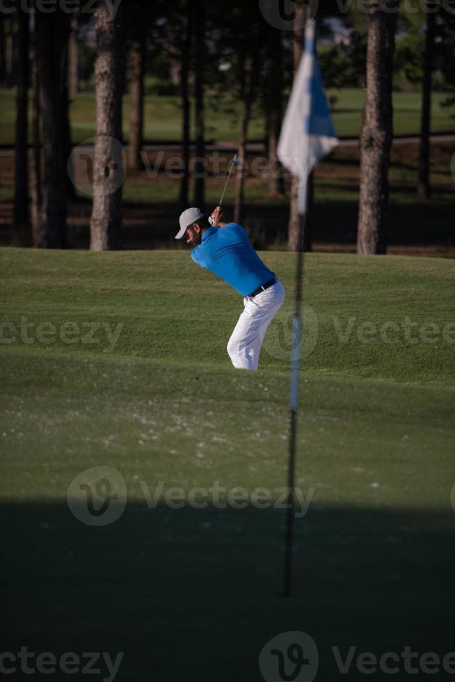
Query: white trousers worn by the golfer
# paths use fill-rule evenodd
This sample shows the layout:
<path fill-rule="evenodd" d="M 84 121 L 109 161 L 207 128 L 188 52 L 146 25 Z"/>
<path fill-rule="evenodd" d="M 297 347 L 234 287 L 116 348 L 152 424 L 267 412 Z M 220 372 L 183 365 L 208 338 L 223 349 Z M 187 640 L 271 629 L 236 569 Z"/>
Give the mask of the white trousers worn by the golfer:
<path fill-rule="evenodd" d="M 256 296 L 245 296 L 244 312 L 227 342 L 232 365 L 238 370 L 257 370 L 267 327 L 284 300 L 285 287 L 280 280 Z"/>

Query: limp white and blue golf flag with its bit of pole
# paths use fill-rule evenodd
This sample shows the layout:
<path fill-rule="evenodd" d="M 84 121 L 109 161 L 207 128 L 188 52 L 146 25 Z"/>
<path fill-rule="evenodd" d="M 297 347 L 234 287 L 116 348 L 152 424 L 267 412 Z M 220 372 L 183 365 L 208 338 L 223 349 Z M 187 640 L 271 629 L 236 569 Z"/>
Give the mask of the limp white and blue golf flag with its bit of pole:
<path fill-rule="evenodd" d="M 305 49 L 294 78 L 277 148 L 282 165 L 300 179 L 298 212 L 301 215 L 307 207 L 308 176 L 315 164 L 338 144 L 322 86 L 314 29 L 314 21 L 311 21 L 305 30 Z"/>

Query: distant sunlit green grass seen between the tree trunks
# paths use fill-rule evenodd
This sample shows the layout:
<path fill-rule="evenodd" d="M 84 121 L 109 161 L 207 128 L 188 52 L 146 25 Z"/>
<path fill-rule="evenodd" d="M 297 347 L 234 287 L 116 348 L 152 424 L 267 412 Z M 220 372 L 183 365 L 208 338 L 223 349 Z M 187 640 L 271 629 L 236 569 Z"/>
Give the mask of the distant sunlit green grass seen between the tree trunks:
<path fill-rule="evenodd" d="M 335 129 L 340 136 L 358 136 L 360 132 L 362 107 L 365 91 L 359 89 L 328 90 L 328 96 L 337 97 L 333 107 Z M 431 130 L 433 132 L 454 131 L 454 107 L 442 108 L 444 93 L 433 93 Z M 232 112 L 227 107 L 232 108 Z M 0 143 L 13 144 L 15 138 L 15 90 L 0 92 L 1 130 Z M 129 132 L 129 96 L 123 104 L 125 138 Z M 396 135 L 418 134 L 420 131 L 420 93 L 394 93 L 394 132 Z M 75 95 L 70 109 L 72 141 L 80 141 L 95 135 L 95 94 L 83 92 Z M 182 109 L 176 96 L 145 97 L 146 140 L 179 141 L 182 138 Z M 241 106 L 219 102 L 206 97 L 206 137 L 216 141 L 237 142 L 241 126 Z M 191 133 L 193 135 L 193 131 Z M 264 120 L 259 111 L 253 117 L 248 134 L 250 140 L 264 137 Z"/>

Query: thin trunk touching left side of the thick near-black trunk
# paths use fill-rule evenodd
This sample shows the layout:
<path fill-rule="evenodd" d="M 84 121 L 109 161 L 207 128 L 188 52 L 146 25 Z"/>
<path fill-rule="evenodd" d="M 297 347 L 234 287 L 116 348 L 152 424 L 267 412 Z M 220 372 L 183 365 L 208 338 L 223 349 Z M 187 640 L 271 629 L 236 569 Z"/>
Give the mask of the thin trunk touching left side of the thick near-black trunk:
<path fill-rule="evenodd" d="M 33 172 L 31 181 L 31 234 L 33 246 L 45 248 L 47 246 L 46 225 L 42 214 L 41 187 L 41 139 L 40 139 L 40 77 L 38 64 L 33 61 Z"/>

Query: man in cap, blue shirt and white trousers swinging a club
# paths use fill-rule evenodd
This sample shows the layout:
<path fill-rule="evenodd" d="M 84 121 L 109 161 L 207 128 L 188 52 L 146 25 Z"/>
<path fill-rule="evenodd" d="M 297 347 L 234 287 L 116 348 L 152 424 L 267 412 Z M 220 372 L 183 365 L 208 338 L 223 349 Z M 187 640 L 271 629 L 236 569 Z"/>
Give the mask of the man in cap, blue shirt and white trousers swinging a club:
<path fill-rule="evenodd" d="M 244 228 L 222 220 L 219 206 L 211 222 L 200 209 L 188 208 L 180 216 L 175 239 L 185 237 L 186 244 L 195 246 L 193 261 L 244 296 L 244 312 L 227 342 L 227 353 L 237 369 L 257 370 L 262 341 L 285 300 L 285 287 L 257 255 Z"/>

